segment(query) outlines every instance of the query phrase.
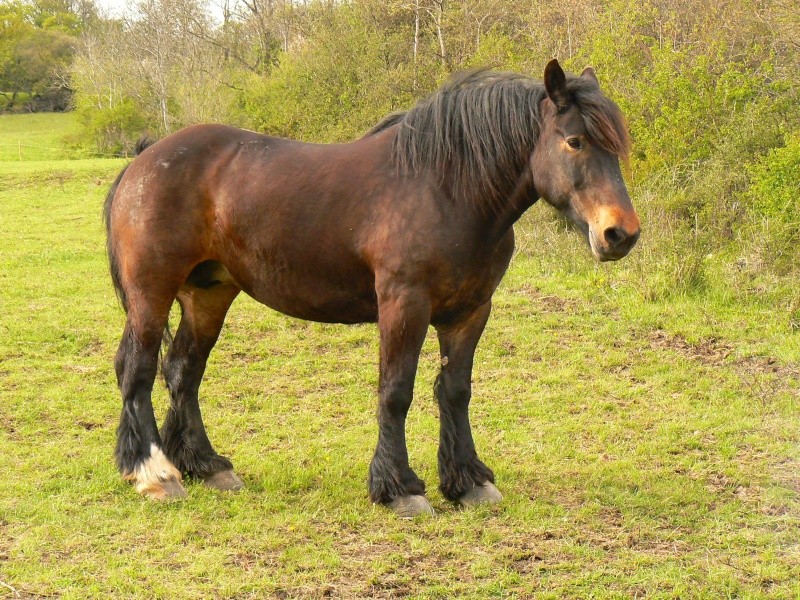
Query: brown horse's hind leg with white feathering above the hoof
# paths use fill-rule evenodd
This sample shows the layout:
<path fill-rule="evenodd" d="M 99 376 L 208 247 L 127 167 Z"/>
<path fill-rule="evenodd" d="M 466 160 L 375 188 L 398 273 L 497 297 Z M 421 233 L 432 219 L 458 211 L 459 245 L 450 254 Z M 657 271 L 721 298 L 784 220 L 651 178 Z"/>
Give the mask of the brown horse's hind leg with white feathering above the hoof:
<path fill-rule="evenodd" d="M 128 318 L 115 359 L 123 401 L 117 429 L 117 466 L 137 492 L 159 500 L 186 496 L 180 472 L 161 449 L 151 399 L 158 351 L 173 298 L 171 294 L 155 294 L 146 300 L 143 294 L 128 294 Z"/>

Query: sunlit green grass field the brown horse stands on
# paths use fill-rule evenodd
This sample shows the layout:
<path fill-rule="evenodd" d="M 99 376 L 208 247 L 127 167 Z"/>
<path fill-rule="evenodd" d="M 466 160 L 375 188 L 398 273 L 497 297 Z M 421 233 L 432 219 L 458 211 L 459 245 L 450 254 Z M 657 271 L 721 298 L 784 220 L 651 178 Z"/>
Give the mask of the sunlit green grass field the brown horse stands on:
<path fill-rule="evenodd" d="M 800 597 L 800 334 L 724 285 L 645 293 L 663 236 L 596 265 L 540 206 L 476 360 L 500 506 L 436 489 L 432 334 L 408 441 L 438 514 L 401 521 L 366 493 L 375 327 L 244 297 L 201 399 L 246 489 L 140 498 L 112 459 L 123 314 L 100 219 L 124 161 L 7 150 L 56 148 L 69 121 L 0 117 L 0 597 Z"/>

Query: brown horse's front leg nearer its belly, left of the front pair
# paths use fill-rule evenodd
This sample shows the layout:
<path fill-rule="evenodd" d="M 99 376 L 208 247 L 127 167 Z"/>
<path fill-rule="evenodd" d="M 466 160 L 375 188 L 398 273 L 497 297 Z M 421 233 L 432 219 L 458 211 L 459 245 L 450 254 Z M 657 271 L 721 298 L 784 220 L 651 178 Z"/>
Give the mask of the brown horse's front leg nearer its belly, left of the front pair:
<path fill-rule="evenodd" d="M 378 315 L 378 445 L 369 469 L 370 498 L 400 517 L 432 514 L 425 483 L 408 464 L 405 434 L 419 353 L 430 323 L 430 303 L 412 290 L 379 289 Z"/>

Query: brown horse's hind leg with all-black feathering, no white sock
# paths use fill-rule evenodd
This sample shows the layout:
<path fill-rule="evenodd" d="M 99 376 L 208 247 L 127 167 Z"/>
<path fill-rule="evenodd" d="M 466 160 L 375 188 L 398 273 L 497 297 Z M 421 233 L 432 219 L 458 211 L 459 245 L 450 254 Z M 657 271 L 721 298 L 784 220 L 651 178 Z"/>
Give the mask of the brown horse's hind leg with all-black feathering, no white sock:
<path fill-rule="evenodd" d="M 231 283 L 198 277 L 206 267 L 193 272 L 178 293 L 181 321 L 162 365 L 171 406 L 161 437 L 167 457 L 181 472 L 203 479 L 208 487 L 235 491 L 242 488 L 242 480 L 230 460 L 211 445 L 198 393 L 209 353 L 240 290 Z"/>

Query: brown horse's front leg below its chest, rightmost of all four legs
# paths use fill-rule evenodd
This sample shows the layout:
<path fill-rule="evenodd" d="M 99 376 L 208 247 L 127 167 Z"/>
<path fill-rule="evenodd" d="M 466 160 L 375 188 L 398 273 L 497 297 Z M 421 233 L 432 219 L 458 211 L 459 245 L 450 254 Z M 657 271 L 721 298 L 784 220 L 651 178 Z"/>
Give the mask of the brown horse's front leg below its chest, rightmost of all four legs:
<path fill-rule="evenodd" d="M 440 489 L 447 499 L 464 506 L 503 499 L 494 486 L 494 473 L 478 458 L 469 424 L 472 363 L 490 312 L 487 302 L 464 321 L 437 327 L 442 358 L 434 385 L 440 415 Z"/>

